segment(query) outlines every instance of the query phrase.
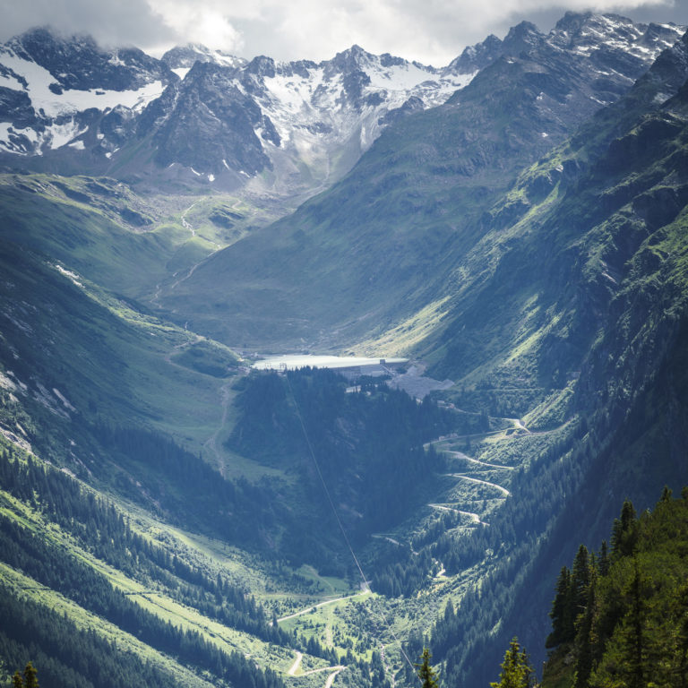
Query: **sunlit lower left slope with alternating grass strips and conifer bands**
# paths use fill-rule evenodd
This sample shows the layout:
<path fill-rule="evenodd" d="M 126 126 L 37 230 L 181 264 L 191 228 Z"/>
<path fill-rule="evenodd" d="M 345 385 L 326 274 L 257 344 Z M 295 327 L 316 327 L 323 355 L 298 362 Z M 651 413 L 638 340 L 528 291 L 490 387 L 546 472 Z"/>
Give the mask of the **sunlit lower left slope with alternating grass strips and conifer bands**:
<path fill-rule="evenodd" d="M 249 581 L 264 588 L 261 562 L 250 568 L 233 549 L 213 550 L 4 439 L 0 446 L 4 661 L 30 656 L 56 686 L 114 688 L 136 677 L 157 686 L 283 685 L 297 638 L 248 593 Z M 287 593 L 276 579 L 271 589 Z"/>

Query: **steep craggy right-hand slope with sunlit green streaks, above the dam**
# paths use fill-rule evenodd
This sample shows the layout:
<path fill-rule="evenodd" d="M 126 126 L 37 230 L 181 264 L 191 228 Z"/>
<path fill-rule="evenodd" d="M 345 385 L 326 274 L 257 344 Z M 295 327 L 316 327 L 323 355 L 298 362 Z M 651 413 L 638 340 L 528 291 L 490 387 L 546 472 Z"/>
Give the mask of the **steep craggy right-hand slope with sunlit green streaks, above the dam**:
<path fill-rule="evenodd" d="M 547 387 L 581 370 L 624 280 L 637 279 L 631 259 L 686 202 L 684 90 L 670 99 L 688 76 L 670 58 L 685 54 L 658 60 L 491 209 L 426 341 L 436 374 Z"/>

